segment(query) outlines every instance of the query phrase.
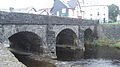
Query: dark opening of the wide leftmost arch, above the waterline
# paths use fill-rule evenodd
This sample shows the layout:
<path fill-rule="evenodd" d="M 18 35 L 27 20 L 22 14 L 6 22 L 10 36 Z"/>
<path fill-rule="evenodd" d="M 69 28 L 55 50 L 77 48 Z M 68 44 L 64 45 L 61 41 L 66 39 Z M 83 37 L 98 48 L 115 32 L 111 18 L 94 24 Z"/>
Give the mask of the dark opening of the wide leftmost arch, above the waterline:
<path fill-rule="evenodd" d="M 36 33 L 21 31 L 11 35 L 9 38 L 10 48 L 24 52 L 43 53 L 43 41 Z"/>

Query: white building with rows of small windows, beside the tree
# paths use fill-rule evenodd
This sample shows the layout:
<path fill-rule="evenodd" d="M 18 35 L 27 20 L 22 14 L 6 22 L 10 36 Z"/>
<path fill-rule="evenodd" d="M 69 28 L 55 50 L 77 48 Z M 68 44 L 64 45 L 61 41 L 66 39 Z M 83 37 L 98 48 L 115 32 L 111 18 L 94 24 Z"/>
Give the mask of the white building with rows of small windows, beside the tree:
<path fill-rule="evenodd" d="M 98 20 L 99 23 L 106 23 L 109 20 L 107 5 L 88 5 L 81 8 L 84 11 L 84 19 Z"/>

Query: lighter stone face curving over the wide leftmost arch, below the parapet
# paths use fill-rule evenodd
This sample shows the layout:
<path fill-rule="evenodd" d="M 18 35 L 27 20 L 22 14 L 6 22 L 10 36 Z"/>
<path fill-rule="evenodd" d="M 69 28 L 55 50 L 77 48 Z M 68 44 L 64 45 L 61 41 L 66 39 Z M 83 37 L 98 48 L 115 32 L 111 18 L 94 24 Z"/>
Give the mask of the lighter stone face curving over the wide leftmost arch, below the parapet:
<path fill-rule="evenodd" d="M 22 31 L 34 32 L 41 38 L 44 42 L 46 41 L 46 25 L 3 25 L 3 39 L 7 40 L 10 36 L 15 33 Z M 44 34 L 41 34 L 44 33 Z M 2 42 L 4 42 L 4 40 Z"/>

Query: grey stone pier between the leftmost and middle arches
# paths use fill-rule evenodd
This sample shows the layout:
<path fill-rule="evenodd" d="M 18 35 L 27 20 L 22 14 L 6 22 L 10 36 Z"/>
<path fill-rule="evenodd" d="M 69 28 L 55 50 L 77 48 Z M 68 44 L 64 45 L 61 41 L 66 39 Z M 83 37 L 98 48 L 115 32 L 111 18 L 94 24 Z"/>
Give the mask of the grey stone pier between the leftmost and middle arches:
<path fill-rule="evenodd" d="M 56 38 L 55 38 L 55 32 L 52 31 L 52 26 L 47 25 L 47 35 L 46 35 L 46 42 L 48 47 L 48 54 L 51 56 L 51 58 L 57 58 L 56 56 Z"/>

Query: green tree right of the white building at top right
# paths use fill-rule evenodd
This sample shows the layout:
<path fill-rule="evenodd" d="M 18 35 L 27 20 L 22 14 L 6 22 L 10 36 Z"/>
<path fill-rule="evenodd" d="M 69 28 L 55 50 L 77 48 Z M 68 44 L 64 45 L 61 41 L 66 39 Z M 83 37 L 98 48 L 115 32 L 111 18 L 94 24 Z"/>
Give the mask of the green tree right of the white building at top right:
<path fill-rule="evenodd" d="M 117 21 L 117 16 L 119 15 L 119 7 L 115 4 L 111 4 L 108 6 L 108 10 L 109 10 L 109 18 L 116 22 Z"/>

